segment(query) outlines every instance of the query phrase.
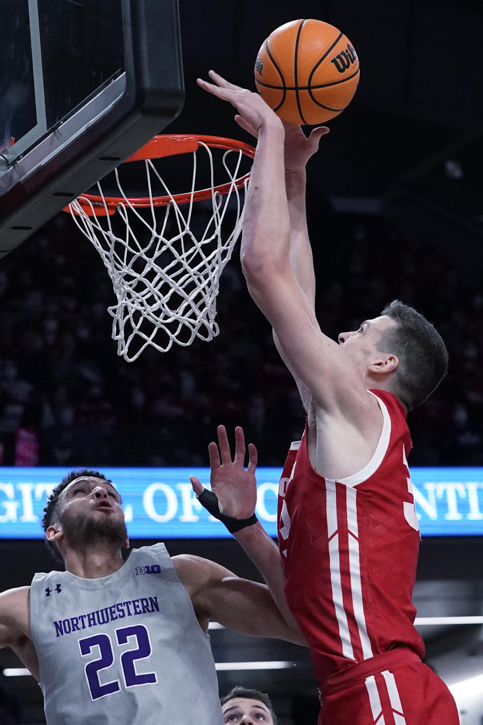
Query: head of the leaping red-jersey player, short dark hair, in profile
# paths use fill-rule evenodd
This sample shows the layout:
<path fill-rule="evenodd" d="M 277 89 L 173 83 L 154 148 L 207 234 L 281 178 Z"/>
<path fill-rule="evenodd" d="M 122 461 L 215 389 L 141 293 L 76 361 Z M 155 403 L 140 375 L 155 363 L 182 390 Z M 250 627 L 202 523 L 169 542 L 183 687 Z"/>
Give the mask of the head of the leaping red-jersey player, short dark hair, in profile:
<path fill-rule="evenodd" d="M 448 370 L 440 334 L 419 312 L 395 299 L 339 343 L 355 360 L 364 381 L 395 394 L 411 410 L 424 402 Z"/>

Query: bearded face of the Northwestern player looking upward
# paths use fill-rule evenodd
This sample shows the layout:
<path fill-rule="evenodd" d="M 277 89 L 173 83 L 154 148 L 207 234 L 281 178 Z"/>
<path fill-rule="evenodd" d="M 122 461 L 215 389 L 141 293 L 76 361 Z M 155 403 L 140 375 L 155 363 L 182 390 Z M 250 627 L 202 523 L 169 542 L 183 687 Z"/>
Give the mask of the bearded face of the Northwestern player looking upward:
<path fill-rule="evenodd" d="M 103 479 L 81 476 L 71 481 L 62 494 L 59 521 L 72 544 L 96 539 L 124 544 L 124 512 L 114 486 Z"/>

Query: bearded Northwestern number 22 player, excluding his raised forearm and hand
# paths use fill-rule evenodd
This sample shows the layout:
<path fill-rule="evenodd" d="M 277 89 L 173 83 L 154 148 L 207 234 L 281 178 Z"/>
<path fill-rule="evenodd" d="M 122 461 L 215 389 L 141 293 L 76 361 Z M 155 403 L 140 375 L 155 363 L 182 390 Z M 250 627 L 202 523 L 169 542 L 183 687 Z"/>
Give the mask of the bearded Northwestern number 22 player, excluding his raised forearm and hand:
<path fill-rule="evenodd" d="M 38 680 L 48 725 L 222 725 L 209 619 L 303 641 L 264 585 L 212 561 L 155 544 L 125 562 L 121 499 L 97 471 L 56 486 L 43 528 L 66 571 L 0 595 L 0 646 Z"/>

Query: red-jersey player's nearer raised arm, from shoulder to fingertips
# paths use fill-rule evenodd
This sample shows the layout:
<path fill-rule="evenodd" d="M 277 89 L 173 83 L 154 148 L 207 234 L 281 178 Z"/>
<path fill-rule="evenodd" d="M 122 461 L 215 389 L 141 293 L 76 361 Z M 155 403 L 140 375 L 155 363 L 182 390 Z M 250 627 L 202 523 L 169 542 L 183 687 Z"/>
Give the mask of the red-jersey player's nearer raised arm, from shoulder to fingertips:
<path fill-rule="evenodd" d="M 306 384 L 319 408 L 337 414 L 342 411 L 370 427 L 373 404 L 361 373 L 352 358 L 322 333 L 313 300 L 306 297 L 290 263 L 282 121 L 258 94 L 233 86 L 213 72 L 210 76 L 214 83 L 198 83 L 234 105 L 239 113 L 235 119 L 259 139 L 240 251 L 251 296 L 272 323 L 290 370 Z M 379 424 L 377 411 L 374 424 Z"/>

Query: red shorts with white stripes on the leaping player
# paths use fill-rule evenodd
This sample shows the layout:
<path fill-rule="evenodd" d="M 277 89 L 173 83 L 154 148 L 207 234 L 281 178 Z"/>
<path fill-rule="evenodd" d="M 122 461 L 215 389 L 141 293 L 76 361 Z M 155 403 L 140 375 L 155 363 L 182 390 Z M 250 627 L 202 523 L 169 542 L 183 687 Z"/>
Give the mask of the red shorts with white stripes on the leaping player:
<path fill-rule="evenodd" d="M 459 725 L 453 695 L 411 650 L 350 666 L 321 687 L 319 725 Z"/>

